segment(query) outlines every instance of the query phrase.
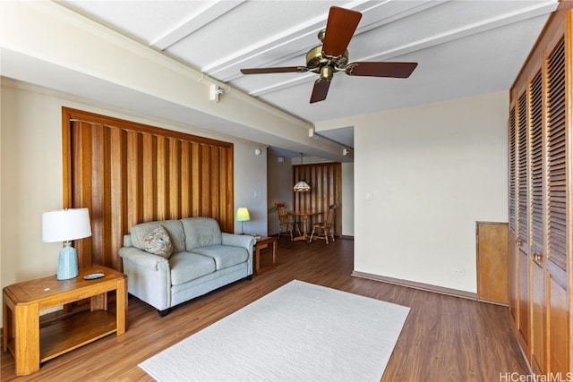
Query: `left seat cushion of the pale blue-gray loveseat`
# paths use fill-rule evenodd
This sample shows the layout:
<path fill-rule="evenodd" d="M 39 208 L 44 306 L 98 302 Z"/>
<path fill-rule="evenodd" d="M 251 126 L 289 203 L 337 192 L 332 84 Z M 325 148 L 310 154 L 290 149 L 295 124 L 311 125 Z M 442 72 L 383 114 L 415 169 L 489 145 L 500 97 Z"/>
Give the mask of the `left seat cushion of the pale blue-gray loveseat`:
<path fill-rule="evenodd" d="M 215 260 L 198 253 L 176 252 L 169 258 L 171 284 L 185 284 L 215 272 Z"/>

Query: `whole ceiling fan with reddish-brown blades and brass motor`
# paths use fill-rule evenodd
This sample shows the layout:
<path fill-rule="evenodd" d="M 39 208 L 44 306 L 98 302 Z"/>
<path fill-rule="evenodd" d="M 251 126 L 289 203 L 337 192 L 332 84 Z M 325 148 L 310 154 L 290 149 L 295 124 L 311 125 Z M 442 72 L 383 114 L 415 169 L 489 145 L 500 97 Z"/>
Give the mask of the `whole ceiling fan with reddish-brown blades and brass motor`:
<path fill-rule="evenodd" d="M 348 47 L 361 18 L 362 13 L 332 6 L 330 7 L 326 30 L 319 32 L 322 45 L 309 50 L 306 54 L 306 66 L 241 69 L 241 72 L 243 74 L 318 73 L 321 77 L 314 81 L 311 104 L 326 99 L 334 72 L 346 72 L 350 76 L 409 77 L 418 63 L 356 62 L 348 64 L 346 47 Z"/>

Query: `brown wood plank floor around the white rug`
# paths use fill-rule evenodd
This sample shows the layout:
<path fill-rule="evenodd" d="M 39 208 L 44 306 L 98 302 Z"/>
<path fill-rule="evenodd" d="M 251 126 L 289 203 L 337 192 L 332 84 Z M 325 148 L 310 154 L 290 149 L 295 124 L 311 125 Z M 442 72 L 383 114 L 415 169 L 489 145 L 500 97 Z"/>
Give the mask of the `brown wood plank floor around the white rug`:
<path fill-rule="evenodd" d="M 278 267 L 251 281 L 184 303 L 165 318 L 130 298 L 124 335 L 108 335 L 47 361 L 27 377 L 15 377 L 13 357 L 3 352 L 0 379 L 151 381 L 138 363 L 293 279 L 411 308 L 383 381 L 499 381 L 500 374 L 527 373 L 507 308 L 350 276 L 353 258 L 352 240 L 338 239 L 327 246 L 281 238 Z"/>

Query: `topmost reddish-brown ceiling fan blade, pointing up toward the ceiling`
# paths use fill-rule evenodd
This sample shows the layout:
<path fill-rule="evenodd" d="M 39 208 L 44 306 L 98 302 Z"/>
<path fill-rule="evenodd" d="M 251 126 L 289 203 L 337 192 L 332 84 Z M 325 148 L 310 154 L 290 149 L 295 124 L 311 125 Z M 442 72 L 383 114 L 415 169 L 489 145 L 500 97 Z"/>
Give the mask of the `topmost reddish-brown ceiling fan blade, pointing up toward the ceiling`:
<path fill-rule="evenodd" d="M 330 7 L 329 20 L 326 23 L 326 33 L 322 41 L 322 52 L 325 55 L 344 55 L 350 39 L 355 34 L 362 13 L 351 9 Z"/>

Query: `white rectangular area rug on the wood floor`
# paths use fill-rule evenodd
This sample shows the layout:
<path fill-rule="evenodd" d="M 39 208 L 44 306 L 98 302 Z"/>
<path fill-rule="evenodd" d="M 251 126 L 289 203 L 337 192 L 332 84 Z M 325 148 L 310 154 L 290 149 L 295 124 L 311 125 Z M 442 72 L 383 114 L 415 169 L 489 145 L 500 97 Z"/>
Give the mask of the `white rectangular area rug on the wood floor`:
<path fill-rule="evenodd" d="M 158 381 L 379 381 L 409 308 L 292 281 L 143 361 Z"/>

